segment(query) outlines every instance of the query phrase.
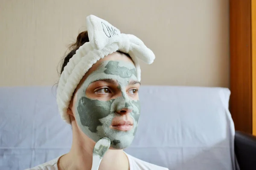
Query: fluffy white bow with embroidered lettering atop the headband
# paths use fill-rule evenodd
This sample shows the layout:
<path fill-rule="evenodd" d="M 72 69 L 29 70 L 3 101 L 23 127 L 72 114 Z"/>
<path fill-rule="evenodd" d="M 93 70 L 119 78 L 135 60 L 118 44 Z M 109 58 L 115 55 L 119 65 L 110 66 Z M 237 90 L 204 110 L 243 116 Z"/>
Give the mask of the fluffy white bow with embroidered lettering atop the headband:
<path fill-rule="evenodd" d="M 103 49 L 113 43 L 119 43 L 119 50 L 128 53 L 132 58 L 140 58 L 147 64 L 153 63 L 155 59 L 154 53 L 142 40 L 134 35 L 122 34 L 119 29 L 99 17 L 87 17 L 87 31 L 94 49 Z"/>

